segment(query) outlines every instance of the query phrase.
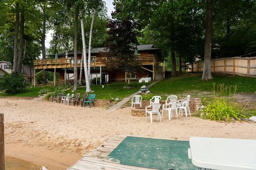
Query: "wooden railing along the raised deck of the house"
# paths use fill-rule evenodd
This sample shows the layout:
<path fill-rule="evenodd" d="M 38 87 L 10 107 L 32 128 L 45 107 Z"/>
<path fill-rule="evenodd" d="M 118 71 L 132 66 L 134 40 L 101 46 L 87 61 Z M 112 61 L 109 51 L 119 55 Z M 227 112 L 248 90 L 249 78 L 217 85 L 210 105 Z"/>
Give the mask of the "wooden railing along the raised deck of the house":
<path fill-rule="evenodd" d="M 156 63 L 154 54 L 142 54 L 138 55 L 141 65 L 151 65 Z M 92 57 L 91 67 L 106 66 L 106 57 Z M 77 67 L 81 66 L 82 61 L 77 60 Z M 73 58 L 60 58 L 60 59 L 47 59 L 47 60 L 35 60 L 35 69 L 58 69 L 58 68 L 73 68 L 74 59 Z"/>

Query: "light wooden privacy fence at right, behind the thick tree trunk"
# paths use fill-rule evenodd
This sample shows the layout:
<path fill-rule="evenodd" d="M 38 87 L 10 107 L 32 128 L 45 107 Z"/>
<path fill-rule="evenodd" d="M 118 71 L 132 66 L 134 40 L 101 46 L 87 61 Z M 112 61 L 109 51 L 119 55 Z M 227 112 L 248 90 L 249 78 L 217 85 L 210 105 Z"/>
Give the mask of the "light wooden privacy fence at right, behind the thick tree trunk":
<path fill-rule="evenodd" d="M 194 63 L 189 71 L 203 72 L 204 61 Z M 212 73 L 256 77 L 256 57 L 218 58 L 211 61 Z"/>

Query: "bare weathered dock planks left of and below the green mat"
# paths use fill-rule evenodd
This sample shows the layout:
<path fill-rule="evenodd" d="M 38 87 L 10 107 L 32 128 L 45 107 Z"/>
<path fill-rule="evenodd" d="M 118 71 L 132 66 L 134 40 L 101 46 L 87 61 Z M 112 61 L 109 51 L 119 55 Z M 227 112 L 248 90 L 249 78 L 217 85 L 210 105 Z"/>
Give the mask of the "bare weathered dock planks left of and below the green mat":
<path fill-rule="evenodd" d="M 69 167 L 68 170 L 85 170 L 85 169 L 115 169 L 115 170 L 154 170 L 149 168 L 127 166 L 116 163 L 103 161 L 113 151 L 119 143 L 126 138 L 126 135 L 114 135 L 107 141 L 103 142 L 101 146 L 94 149 L 89 154 L 85 155 L 82 159 L 78 160 L 76 164 Z"/>

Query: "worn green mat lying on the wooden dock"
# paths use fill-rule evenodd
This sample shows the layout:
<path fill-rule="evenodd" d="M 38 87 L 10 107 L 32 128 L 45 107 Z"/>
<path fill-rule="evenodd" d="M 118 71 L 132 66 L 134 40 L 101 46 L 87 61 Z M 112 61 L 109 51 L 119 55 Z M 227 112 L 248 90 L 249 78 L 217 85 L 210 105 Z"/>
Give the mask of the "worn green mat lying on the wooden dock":
<path fill-rule="evenodd" d="M 188 158 L 188 141 L 126 137 L 106 161 L 153 169 L 198 170 Z"/>

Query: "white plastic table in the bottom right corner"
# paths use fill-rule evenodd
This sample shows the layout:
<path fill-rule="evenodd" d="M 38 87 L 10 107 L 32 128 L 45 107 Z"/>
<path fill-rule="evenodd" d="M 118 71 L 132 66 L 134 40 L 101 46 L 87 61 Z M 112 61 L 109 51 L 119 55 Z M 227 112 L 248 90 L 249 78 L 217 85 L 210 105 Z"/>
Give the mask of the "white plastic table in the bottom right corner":
<path fill-rule="evenodd" d="M 256 140 L 190 137 L 189 144 L 188 157 L 197 167 L 218 170 L 256 169 Z"/>

